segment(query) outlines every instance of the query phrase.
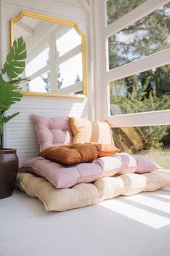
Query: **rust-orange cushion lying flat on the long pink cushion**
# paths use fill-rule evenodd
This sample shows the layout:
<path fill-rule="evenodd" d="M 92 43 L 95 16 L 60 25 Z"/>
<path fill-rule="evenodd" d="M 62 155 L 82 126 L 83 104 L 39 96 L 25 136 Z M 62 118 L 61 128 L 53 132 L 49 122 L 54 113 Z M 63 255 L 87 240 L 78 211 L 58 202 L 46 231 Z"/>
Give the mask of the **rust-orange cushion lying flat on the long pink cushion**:
<path fill-rule="evenodd" d="M 40 151 L 39 155 L 51 161 L 71 166 L 77 163 L 92 162 L 98 157 L 115 155 L 117 152 L 119 149 L 115 145 L 76 143 L 60 147 L 51 146 Z"/>

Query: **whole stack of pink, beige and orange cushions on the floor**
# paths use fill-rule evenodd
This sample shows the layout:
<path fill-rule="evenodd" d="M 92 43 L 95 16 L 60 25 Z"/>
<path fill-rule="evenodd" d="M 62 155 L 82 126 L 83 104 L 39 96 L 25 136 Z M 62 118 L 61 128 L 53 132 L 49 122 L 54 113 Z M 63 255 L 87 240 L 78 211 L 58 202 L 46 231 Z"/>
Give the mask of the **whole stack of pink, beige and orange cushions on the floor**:
<path fill-rule="evenodd" d="M 80 208 L 169 186 L 169 171 L 144 174 L 158 169 L 156 163 L 119 153 L 107 122 L 36 115 L 32 119 L 40 156 L 24 162 L 17 187 L 37 197 L 46 210 Z"/>

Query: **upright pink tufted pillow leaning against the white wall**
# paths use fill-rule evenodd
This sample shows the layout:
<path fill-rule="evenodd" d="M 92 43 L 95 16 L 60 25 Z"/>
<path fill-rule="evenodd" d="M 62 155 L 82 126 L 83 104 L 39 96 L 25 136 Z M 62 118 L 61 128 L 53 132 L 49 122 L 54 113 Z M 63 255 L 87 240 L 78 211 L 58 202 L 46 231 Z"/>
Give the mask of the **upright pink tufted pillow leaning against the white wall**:
<path fill-rule="evenodd" d="M 73 142 L 73 133 L 67 118 L 44 117 L 32 114 L 40 150 L 50 146 L 68 145 Z"/>

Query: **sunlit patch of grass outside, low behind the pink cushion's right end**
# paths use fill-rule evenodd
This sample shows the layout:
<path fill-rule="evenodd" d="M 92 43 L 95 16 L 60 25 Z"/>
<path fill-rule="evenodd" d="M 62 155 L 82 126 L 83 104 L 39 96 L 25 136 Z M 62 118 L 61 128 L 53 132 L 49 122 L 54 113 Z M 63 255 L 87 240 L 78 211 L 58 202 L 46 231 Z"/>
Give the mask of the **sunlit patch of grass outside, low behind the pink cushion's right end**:
<path fill-rule="evenodd" d="M 143 150 L 138 153 L 138 155 L 143 155 L 161 166 L 161 168 L 166 168 L 170 170 L 170 148 L 158 149 L 158 150 Z"/>

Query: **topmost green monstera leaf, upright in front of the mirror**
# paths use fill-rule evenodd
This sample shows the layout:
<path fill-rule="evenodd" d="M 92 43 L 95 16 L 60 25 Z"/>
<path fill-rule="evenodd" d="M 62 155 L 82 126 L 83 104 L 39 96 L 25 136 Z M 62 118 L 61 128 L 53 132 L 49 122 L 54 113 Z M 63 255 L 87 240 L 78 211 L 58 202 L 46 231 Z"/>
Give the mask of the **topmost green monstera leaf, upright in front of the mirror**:
<path fill-rule="evenodd" d="M 14 40 L 13 46 L 6 56 L 4 68 L 1 69 L 3 74 L 7 74 L 10 78 L 15 78 L 22 74 L 25 68 L 25 59 L 27 58 L 26 45 L 22 36 Z"/>

